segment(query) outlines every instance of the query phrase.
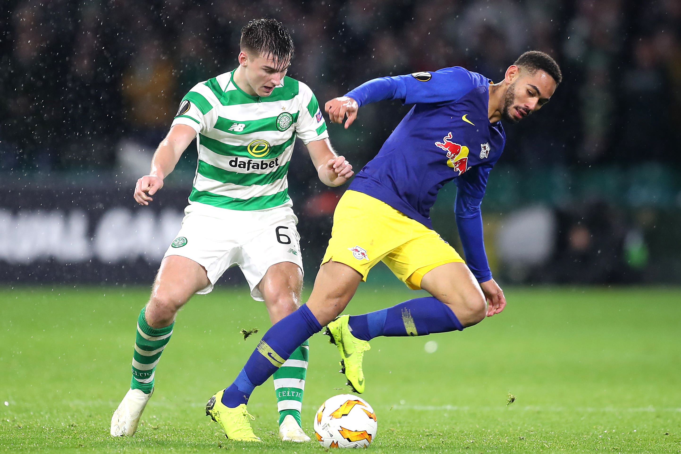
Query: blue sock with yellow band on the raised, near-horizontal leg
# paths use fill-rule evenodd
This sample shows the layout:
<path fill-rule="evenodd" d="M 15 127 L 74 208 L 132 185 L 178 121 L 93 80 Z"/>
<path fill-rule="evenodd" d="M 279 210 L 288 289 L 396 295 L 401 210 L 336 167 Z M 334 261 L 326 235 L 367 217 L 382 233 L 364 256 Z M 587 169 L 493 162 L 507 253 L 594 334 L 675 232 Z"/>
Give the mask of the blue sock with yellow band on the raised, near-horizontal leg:
<path fill-rule="evenodd" d="M 362 340 L 378 336 L 426 336 L 464 329 L 452 309 L 433 296 L 409 299 L 368 314 L 352 315 L 348 323 L 353 336 Z"/>

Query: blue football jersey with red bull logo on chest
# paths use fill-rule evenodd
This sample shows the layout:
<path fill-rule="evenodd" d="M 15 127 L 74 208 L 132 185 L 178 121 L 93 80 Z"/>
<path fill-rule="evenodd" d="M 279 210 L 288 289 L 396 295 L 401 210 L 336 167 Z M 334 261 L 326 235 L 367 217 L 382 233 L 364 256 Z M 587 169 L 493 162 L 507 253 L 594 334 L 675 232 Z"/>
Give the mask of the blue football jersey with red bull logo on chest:
<path fill-rule="evenodd" d="M 349 189 L 375 197 L 432 228 L 430 207 L 455 180 L 458 204 L 479 209 L 506 136 L 488 119 L 490 80 L 462 67 L 375 79 L 346 96 L 360 103 L 414 103 Z"/>

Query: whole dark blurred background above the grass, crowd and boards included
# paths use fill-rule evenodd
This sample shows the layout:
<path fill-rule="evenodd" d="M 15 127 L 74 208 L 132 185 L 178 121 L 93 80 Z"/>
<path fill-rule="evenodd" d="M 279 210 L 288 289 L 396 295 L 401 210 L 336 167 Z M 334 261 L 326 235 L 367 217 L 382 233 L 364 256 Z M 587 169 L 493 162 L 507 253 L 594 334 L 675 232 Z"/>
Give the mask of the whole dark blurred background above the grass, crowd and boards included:
<path fill-rule="evenodd" d="M 98 207 L 136 216 L 134 180 L 148 172 L 180 99 L 236 67 L 240 27 L 262 16 L 291 30 L 289 76 L 311 86 L 320 104 L 370 78 L 454 65 L 498 82 L 525 50 L 548 52 L 563 84 L 539 114 L 505 125 L 507 146 L 490 176 L 483 210 L 492 271 L 512 282 L 681 280 L 681 2 L 674 0 L 5 0 L 3 247 L 27 235 L 19 220 L 28 212 L 81 210 L 91 239 Z M 360 169 L 408 109 L 363 107 L 349 131 L 330 125 L 332 143 Z M 289 185 L 310 277 L 342 189 L 323 187 L 297 146 Z M 190 147 L 162 190 L 168 197 L 150 210 L 181 210 L 195 160 Z M 454 244 L 455 193 L 445 187 L 432 213 Z M 523 226 L 525 210 L 535 210 L 539 222 Z M 516 248 L 502 238 L 511 221 L 520 232 Z M 524 256 L 523 241 L 537 235 L 545 247 Z M 0 256 L 5 282 L 148 281 L 158 265 L 49 254 L 19 264 L 10 255 Z M 89 271 L 78 268 L 83 263 Z M 122 271 L 131 264 L 144 272 Z"/>

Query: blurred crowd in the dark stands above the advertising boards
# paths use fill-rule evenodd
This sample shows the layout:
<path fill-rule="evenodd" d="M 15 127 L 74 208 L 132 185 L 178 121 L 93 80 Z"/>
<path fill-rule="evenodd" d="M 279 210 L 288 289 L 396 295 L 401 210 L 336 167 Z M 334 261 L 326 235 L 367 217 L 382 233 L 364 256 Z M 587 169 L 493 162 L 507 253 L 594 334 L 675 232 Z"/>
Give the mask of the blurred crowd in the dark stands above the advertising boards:
<path fill-rule="evenodd" d="M 507 163 L 681 163 L 678 0 L 5 0 L 0 170 L 106 169 L 121 144 L 153 148 L 193 84 L 236 67 L 240 27 L 262 16 L 289 27 L 289 74 L 320 103 L 452 65 L 498 81 L 543 50 L 565 82 L 545 114 L 507 129 Z M 368 161 L 404 112 L 366 108 L 336 130 L 343 152 Z"/>

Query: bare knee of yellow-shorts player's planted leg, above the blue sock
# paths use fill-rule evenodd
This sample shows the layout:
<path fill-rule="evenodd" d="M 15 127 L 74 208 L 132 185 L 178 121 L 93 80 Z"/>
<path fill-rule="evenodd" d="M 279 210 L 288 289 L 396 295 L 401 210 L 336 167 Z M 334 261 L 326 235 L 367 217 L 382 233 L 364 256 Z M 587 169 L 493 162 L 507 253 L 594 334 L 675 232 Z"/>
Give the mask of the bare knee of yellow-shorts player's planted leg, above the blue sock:
<path fill-rule="evenodd" d="M 315 287 L 306 305 L 321 326 L 343 312 L 360 282 L 362 274 L 345 263 L 330 260 L 319 267 Z"/>

